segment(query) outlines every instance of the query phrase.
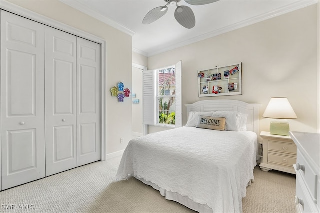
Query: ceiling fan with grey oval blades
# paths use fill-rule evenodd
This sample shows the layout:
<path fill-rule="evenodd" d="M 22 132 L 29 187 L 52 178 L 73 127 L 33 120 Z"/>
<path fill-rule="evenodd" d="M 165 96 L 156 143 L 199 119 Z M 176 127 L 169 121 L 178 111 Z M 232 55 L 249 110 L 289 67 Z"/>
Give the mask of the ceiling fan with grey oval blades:
<path fill-rule="evenodd" d="M 195 26 L 195 16 L 192 9 L 188 6 L 179 6 L 179 2 L 181 0 L 164 0 L 166 2 L 165 6 L 155 7 L 151 11 L 149 11 L 145 17 L 143 18 L 143 24 L 149 24 L 163 15 L 168 11 L 167 5 L 176 6 L 174 17 L 175 19 L 184 26 L 185 28 L 191 29 Z M 214 3 L 219 0 L 184 0 L 186 3 L 191 5 L 204 5 L 209 3 Z"/>

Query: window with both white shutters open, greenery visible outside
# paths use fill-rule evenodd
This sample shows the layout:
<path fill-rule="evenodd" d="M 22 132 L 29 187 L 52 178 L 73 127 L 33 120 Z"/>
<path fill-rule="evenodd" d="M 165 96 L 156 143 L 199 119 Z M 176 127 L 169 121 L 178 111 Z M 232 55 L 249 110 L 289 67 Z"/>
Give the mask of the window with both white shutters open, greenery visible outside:
<path fill-rule="evenodd" d="M 181 61 L 143 71 L 143 124 L 182 126 Z"/>

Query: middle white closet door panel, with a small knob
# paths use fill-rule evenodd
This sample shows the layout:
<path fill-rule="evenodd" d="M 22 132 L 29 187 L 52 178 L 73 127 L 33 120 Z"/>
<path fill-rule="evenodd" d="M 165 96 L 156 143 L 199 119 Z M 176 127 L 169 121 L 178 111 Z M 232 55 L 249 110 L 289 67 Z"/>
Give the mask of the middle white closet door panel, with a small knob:
<path fill-rule="evenodd" d="M 46 175 L 77 166 L 76 36 L 46 26 Z"/>

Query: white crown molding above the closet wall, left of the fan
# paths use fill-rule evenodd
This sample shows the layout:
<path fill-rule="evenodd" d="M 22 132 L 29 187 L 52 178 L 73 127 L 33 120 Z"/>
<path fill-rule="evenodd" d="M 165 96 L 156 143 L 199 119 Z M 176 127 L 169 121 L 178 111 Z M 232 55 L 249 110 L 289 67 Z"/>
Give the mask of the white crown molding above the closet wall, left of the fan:
<path fill-rule="evenodd" d="M 83 4 L 81 4 L 78 1 L 73 1 L 73 0 L 60 0 L 60 1 L 68 6 L 72 7 L 72 8 L 79 10 L 80 12 L 87 14 L 87 15 L 89 15 L 99 21 L 102 21 L 103 23 L 105 23 L 109 26 L 112 26 L 113 28 L 116 28 L 116 29 L 120 30 L 121 32 L 124 32 L 130 36 L 133 36 L 135 34 L 134 31 L 128 29 L 125 26 L 122 26 L 121 24 L 115 22 L 114 20 L 111 20 L 111 19 L 97 13 L 96 11 L 94 11 L 90 8 L 87 8 L 86 6 L 84 6 Z"/>

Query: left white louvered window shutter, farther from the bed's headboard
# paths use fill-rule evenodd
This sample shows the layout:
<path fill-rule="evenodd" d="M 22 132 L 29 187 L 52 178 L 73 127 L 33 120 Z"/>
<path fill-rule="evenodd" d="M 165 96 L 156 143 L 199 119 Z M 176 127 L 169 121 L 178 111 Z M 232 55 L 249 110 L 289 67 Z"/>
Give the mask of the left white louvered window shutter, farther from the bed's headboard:
<path fill-rule="evenodd" d="M 154 71 L 143 71 L 143 125 L 154 125 Z"/>

